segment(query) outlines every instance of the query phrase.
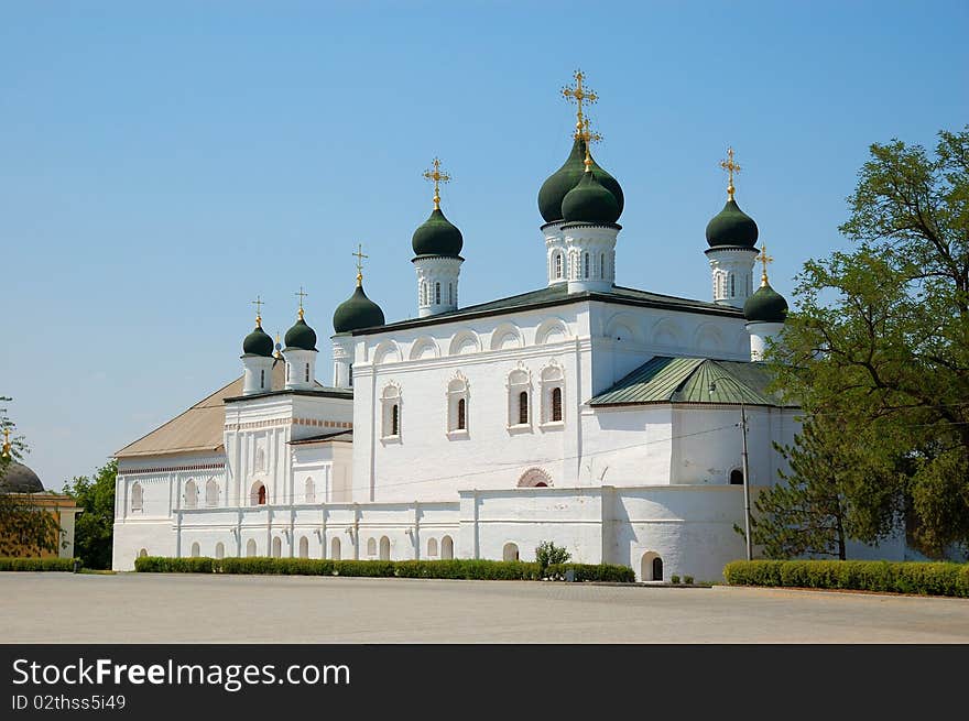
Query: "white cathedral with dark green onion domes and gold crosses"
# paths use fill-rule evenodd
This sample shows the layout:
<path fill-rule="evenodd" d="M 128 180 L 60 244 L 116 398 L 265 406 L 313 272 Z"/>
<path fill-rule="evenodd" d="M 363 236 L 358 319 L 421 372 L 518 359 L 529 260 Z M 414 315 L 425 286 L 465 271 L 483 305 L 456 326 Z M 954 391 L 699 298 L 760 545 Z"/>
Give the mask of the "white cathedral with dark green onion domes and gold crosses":
<path fill-rule="evenodd" d="M 643 581 L 718 580 L 744 557 L 744 480 L 775 483 L 773 444 L 799 428 L 758 362 L 787 304 L 733 199 L 732 152 L 706 229 L 712 299 L 614 284 L 623 195 L 589 154 L 577 80 L 571 153 L 538 192 L 545 286 L 460 305 L 464 240 L 435 162 L 413 234 L 418 317 L 385 323 L 358 272 L 327 386 L 302 303 L 282 348 L 257 316 L 241 378 L 117 452 L 115 569 L 145 555 L 530 560 L 553 540 Z"/>

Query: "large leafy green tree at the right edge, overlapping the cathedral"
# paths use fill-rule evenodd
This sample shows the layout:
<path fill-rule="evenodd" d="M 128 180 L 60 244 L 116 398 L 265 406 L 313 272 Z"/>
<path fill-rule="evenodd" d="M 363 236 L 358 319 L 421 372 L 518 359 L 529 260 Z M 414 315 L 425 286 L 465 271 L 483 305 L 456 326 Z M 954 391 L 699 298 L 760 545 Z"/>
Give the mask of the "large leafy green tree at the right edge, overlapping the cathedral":
<path fill-rule="evenodd" d="M 863 461 L 846 490 L 868 535 L 900 527 L 878 511 L 890 492 L 910 540 L 941 556 L 969 547 L 969 125 L 933 156 L 870 150 L 840 227 L 856 247 L 805 263 L 769 359 L 808 419 L 840 424 L 824 454 Z"/>

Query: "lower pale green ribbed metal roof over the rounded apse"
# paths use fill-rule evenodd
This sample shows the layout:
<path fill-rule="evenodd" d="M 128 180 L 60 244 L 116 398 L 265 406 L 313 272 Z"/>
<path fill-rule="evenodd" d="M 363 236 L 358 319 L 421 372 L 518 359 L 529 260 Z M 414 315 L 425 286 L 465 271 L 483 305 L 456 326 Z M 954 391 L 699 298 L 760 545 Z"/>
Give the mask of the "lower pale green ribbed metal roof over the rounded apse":
<path fill-rule="evenodd" d="M 656 356 L 589 405 L 710 403 L 797 407 L 767 391 L 771 374 L 763 363 Z"/>

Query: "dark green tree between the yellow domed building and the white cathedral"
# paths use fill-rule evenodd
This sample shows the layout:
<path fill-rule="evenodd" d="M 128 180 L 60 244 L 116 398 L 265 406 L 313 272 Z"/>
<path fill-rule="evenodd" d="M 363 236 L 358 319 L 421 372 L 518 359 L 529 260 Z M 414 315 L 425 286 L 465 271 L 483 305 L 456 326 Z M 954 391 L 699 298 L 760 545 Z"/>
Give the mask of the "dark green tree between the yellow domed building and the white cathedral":
<path fill-rule="evenodd" d="M 84 509 L 74 528 L 74 553 L 86 568 L 110 568 L 115 533 L 115 480 L 118 461 L 99 468 L 94 478 L 76 476 L 64 493 Z"/>

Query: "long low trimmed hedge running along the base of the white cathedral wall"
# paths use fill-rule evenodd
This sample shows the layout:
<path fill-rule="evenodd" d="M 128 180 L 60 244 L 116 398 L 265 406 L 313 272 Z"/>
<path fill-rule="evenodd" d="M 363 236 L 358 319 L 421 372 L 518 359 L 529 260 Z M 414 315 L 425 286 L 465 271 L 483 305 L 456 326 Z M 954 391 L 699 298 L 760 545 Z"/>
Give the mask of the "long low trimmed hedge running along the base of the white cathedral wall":
<path fill-rule="evenodd" d="M 558 564 L 542 572 L 538 564 L 519 560 L 330 560 L 317 558 L 137 558 L 134 570 L 156 573 L 265 573 L 276 576 L 367 576 L 377 578 L 450 578 L 462 580 L 563 580 L 571 570 L 576 581 L 632 583 L 625 566 Z"/>

